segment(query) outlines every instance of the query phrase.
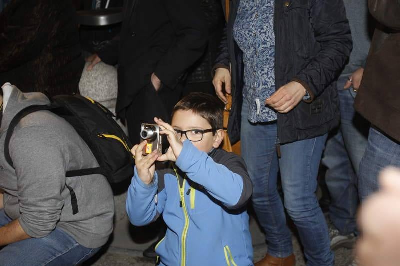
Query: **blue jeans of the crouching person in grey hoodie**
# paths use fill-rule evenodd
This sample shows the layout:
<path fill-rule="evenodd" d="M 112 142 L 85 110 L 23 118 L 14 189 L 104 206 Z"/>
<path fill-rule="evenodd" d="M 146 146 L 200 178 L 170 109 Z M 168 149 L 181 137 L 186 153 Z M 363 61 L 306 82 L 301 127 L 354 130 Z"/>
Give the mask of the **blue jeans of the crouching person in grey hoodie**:
<path fill-rule="evenodd" d="M 11 222 L 0 209 L 0 227 Z M 11 243 L 0 250 L 0 264 L 7 266 L 81 265 L 100 248 L 86 248 L 62 230 L 55 229 L 43 238 L 29 238 Z"/>

